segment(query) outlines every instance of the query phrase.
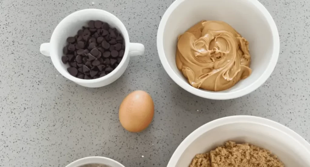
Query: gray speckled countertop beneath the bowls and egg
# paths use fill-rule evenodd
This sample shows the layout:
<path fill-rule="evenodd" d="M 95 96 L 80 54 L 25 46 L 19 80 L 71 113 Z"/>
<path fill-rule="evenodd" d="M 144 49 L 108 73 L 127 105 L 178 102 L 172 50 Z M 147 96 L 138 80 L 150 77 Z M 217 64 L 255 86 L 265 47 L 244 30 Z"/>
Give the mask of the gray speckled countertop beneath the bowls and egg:
<path fill-rule="evenodd" d="M 189 133 L 229 115 L 268 118 L 310 141 L 310 1 L 260 0 L 279 30 L 277 66 L 255 92 L 226 101 L 186 92 L 163 69 L 156 34 L 172 2 L 0 0 L 0 166 L 64 167 L 82 157 L 107 156 L 126 167 L 164 167 Z M 39 52 L 62 18 L 86 8 L 113 13 L 131 41 L 146 47 L 103 88 L 74 84 Z M 130 133 L 118 121 L 118 107 L 138 89 L 153 97 L 155 115 L 148 129 Z"/>

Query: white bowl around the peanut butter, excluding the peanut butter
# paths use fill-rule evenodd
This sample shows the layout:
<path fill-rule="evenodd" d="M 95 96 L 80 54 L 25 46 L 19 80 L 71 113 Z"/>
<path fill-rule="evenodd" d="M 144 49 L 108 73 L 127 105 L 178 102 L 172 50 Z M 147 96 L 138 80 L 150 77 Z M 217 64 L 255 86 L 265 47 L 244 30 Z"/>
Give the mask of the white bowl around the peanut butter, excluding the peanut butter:
<path fill-rule="evenodd" d="M 228 90 L 197 89 L 177 69 L 177 38 L 200 20 L 221 20 L 249 41 L 252 74 Z M 267 9 L 257 0 L 176 0 L 162 16 L 157 32 L 157 50 L 162 65 L 180 87 L 208 99 L 232 99 L 261 86 L 272 73 L 280 49 L 279 34 Z"/>

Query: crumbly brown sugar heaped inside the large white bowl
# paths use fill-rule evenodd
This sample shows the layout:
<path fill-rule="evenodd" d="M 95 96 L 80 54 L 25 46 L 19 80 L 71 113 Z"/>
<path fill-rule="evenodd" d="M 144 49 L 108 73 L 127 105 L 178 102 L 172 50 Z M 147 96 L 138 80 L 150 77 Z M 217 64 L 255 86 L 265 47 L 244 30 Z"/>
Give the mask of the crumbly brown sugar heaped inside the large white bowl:
<path fill-rule="evenodd" d="M 207 162 L 211 165 L 203 166 L 197 162 Z M 236 144 L 228 141 L 224 146 L 210 151 L 210 154 L 197 154 L 189 167 L 284 167 L 284 165 L 277 156 L 266 149 L 248 143 Z"/>

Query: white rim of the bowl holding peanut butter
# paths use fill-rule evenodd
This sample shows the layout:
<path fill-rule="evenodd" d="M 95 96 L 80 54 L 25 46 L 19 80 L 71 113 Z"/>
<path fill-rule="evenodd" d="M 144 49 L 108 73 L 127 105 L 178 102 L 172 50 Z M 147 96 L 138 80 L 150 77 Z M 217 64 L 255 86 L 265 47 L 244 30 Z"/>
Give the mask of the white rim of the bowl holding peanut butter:
<path fill-rule="evenodd" d="M 273 51 L 272 51 L 272 57 L 269 61 L 269 64 L 266 68 L 266 70 L 261 74 L 261 76 L 256 79 L 252 84 L 241 88 L 240 90 L 237 90 L 235 92 L 228 92 L 228 93 L 223 93 L 223 92 L 206 92 L 202 89 L 197 89 L 189 85 L 187 82 L 184 82 L 183 79 L 181 79 L 175 72 L 172 70 L 171 66 L 168 64 L 165 52 L 164 52 L 164 47 L 163 47 L 163 33 L 164 29 L 166 26 L 166 22 L 168 18 L 170 17 L 171 13 L 185 0 L 175 0 L 166 10 L 164 15 L 162 16 L 162 20 L 159 23 L 158 26 L 158 31 L 157 31 L 157 51 L 159 55 L 159 59 L 167 72 L 167 74 L 170 76 L 172 80 L 176 84 L 178 84 L 181 88 L 185 89 L 189 93 L 192 93 L 196 96 L 204 97 L 207 99 L 214 99 L 214 100 L 228 100 L 228 99 L 234 99 L 237 97 L 244 96 L 246 94 L 249 94 L 259 88 L 271 75 L 273 72 L 277 60 L 279 57 L 279 52 L 280 52 L 280 38 L 279 38 L 279 33 L 278 29 L 276 26 L 276 23 L 272 19 L 272 16 L 268 12 L 268 10 L 257 0 L 247 0 L 255 5 L 257 9 L 262 13 L 262 15 L 265 17 L 267 20 L 271 32 L 272 32 L 272 39 L 273 39 Z"/>

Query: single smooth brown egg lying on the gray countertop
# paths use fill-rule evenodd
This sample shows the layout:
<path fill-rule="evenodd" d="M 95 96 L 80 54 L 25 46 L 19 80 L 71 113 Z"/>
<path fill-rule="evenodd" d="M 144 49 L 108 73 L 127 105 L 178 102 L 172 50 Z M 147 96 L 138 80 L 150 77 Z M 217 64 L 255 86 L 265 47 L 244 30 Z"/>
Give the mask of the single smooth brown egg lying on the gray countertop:
<path fill-rule="evenodd" d="M 152 122 L 154 102 L 145 91 L 131 92 L 119 107 L 119 121 L 130 132 L 141 132 Z"/>

